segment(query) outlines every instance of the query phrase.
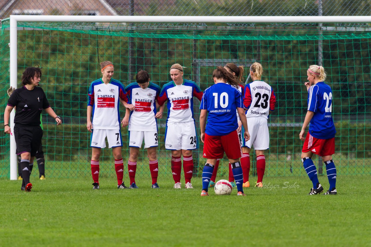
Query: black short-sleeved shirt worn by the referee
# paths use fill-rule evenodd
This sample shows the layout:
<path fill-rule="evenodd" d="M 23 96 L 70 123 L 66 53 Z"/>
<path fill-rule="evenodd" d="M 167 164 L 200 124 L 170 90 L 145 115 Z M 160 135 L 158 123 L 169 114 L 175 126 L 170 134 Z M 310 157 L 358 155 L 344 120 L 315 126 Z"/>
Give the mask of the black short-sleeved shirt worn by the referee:
<path fill-rule="evenodd" d="M 41 111 L 50 107 L 41 87 L 28 90 L 24 86 L 14 90 L 8 100 L 8 106 L 16 107 L 14 124 L 28 126 L 39 126 Z"/>

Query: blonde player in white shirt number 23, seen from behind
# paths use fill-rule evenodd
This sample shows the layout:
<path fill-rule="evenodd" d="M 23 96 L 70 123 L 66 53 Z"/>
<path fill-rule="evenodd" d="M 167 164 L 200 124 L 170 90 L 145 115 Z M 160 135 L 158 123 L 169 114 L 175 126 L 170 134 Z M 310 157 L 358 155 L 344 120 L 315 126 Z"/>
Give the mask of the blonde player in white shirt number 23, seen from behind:
<path fill-rule="evenodd" d="M 256 187 L 263 187 L 265 171 L 264 150 L 269 148 L 269 130 L 267 119 L 275 110 L 276 96 L 269 84 L 262 81 L 263 67 L 260 63 L 250 66 L 250 77 L 253 80 L 245 87 L 244 107 L 246 111 L 247 125 L 249 126 L 250 140 L 242 140 L 241 166 L 243 171 L 243 187 L 250 187 L 250 150 L 254 146 L 256 154 Z"/>

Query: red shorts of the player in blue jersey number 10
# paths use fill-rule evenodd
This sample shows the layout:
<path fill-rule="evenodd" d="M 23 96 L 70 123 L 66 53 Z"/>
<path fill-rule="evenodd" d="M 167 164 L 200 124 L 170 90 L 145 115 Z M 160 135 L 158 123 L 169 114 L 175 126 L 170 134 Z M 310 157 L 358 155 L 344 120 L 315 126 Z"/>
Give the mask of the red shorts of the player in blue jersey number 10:
<path fill-rule="evenodd" d="M 237 131 L 234 130 L 225 136 L 209 136 L 205 134 L 204 158 L 223 158 L 224 152 L 228 158 L 242 157 L 242 150 Z"/>

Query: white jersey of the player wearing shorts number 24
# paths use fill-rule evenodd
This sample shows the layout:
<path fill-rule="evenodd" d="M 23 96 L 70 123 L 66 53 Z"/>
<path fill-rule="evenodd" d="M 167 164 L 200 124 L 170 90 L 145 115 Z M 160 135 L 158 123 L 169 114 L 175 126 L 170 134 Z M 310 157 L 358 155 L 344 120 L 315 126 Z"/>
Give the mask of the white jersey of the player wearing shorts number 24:
<path fill-rule="evenodd" d="M 176 85 L 173 81 L 162 87 L 158 103 L 167 101 L 167 124 L 185 123 L 193 119 L 193 96 L 202 98 L 202 91 L 196 83 L 184 80 L 183 84 Z"/>

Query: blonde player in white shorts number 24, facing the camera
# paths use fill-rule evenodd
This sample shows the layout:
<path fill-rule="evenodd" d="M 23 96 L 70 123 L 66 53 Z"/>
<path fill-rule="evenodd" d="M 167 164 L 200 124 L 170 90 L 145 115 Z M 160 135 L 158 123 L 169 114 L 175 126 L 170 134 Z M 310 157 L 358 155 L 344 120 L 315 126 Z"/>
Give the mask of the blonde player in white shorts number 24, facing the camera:
<path fill-rule="evenodd" d="M 193 188 L 192 150 L 198 148 L 196 125 L 193 118 L 193 97 L 201 101 L 203 92 L 194 81 L 183 79 L 183 67 L 176 63 L 170 68 L 172 81 L 165 84 L 157 101 L 160 106 L 167 101 L 165 148 L 171 150 L 171 171 L 174 188 L 181 188 L 181 155 L 185 188 Z"/>

